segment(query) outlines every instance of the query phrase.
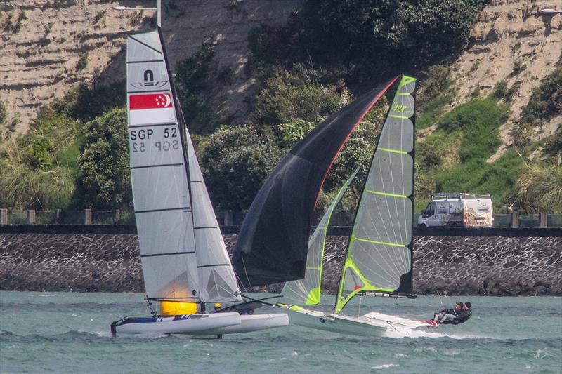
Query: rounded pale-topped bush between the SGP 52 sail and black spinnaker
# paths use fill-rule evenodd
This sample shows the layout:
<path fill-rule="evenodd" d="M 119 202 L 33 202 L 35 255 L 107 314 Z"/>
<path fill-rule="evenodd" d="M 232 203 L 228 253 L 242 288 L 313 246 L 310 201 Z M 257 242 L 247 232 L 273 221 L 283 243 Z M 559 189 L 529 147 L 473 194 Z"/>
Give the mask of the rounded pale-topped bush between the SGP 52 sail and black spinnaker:
<path fill-rule="evenodd" d="M 281 156 L 274 142 L 249 126 L 216 131 L 201 158 L 215 208 L 249 208 Z"/>

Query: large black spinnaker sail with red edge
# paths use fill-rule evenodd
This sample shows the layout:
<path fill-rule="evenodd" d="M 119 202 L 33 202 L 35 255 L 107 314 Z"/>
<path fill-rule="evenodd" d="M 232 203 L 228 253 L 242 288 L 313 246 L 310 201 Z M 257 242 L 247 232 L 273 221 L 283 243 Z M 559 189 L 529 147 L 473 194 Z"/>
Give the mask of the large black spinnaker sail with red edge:
<path fill-rule="evenodd" d="M 275 167 L 251 203 L 234 249 L 233 267 L 243 286 L 304 277 L 311 217 L 327 173 L 355 127 L 396 79 L 319 123 Z"/>

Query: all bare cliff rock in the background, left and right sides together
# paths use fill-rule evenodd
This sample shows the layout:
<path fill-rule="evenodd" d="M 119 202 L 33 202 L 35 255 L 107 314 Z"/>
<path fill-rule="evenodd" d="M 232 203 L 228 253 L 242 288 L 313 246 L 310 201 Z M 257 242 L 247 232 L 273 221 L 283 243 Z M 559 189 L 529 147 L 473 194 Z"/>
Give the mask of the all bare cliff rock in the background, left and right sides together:
<path fill-rule="evenodd" d="M 218 90 L 216 105 L 235 121 L 247 114 L 244 99 L 253 93 L 247 74 L 249 29 L 282 25 L 303 0 L 164 0 L 163 28 L 171 66 L 214 45 L 218 70 L 230 72 Z M 152 11 L 115 11 L 114 6 L 154 6 L 141 0 L 8 0 L 0 4 L 0 100 L 8 116 L 18 115 L 17 133 L 25 132 L 41 105 L 61 98 L 74 84 L 124 79 L 126 34 L 148 30 Z M 478 17 L 472 43 L 455 62 L 457 95 L 453 106 L 475 90 L 487 95 L 502 79 L 516 85 L 509 121 L 502 127 L 504 146 L 509 130 L 528 102 L 532 88 L 555 68 L 562 51 L 562 15 L 537 15 L 558 1 L 495 0 Z M 22 16 L 23 15 L 23 16 Z M 19 26 L 18 26 L 19 24 Z M 561 116 L 545 123 L 550 135 Z M 537 133 L 539 133 L 537 129 Z M 539 136 L 539 135 L 537 135 Z"/>

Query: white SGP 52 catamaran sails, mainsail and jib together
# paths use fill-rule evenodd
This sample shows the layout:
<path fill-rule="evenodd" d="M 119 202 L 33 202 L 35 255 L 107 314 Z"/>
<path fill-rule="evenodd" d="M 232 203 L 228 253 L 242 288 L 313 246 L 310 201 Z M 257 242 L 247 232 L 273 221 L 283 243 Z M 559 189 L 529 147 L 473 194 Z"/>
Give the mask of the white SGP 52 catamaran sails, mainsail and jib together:
<path fill-rule="evenodd" d="M 127 93 L 131 185 L 148 298 L 241 300 L 189 133 L 183 139 L 178 124 L 181 110 L 159 32 L 127 39 Z"/>

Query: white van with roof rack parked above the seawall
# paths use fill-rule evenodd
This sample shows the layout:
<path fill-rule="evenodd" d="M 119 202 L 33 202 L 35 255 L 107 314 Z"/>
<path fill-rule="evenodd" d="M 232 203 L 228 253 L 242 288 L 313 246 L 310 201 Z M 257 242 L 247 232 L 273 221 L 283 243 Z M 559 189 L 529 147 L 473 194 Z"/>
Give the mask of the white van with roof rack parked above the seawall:
<path fill-rule="evenodd" d="M 492 227 L 494 216 L 490 195 L 432 194 L 421 211 L 419 227 Z"/>

